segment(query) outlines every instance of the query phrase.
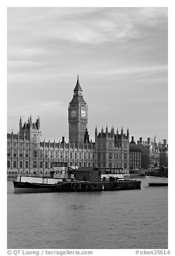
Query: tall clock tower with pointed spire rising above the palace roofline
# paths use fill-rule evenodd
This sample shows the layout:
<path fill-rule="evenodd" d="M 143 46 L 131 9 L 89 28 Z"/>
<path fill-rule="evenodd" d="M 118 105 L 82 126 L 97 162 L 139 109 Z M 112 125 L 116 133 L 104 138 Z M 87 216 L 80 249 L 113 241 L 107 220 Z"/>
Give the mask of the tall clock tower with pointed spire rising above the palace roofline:
<path fill-rule="evenodd" d="M 68 107 L 69 120 L 69 142 L 73 141 L 75 144 L 84 141 L 84 134 L 88 124 L 88 105 L 83 98 L 83 90 L 79 84 L 77 76 L 77 83 L 74 89 L 74 96 Z"/>

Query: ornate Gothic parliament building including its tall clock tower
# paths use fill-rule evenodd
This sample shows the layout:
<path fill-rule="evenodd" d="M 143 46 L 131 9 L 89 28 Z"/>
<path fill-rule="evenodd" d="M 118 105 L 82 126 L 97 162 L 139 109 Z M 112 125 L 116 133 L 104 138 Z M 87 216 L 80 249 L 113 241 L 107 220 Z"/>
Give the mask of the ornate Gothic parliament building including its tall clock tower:
<path fill-rule="evenodd" d="M 19 120 L 19 131 L 7 134 L 8 174 L 48 174 L 53 162 L 68 162 L 68 166 L 101 167 L 129 172 L 129 130 L 95 128 L 95 141 L 89 140 L 88 105 L 77 77 L 74 96 L 68 107 L 69 143 L 41 141 L 40 117 L 33 122 Z"/>

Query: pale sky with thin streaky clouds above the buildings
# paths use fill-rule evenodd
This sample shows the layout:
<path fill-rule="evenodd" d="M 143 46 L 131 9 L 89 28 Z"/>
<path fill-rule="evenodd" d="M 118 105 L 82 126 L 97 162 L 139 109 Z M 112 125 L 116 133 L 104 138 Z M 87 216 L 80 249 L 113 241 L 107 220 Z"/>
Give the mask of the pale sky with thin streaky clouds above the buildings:
<path fill-rule="evenodd" d="M 32 115 L 68 142 L 79 74 L 88 131 L 167 139 L 167 8 L 8 8 L 8 132 Z"/>

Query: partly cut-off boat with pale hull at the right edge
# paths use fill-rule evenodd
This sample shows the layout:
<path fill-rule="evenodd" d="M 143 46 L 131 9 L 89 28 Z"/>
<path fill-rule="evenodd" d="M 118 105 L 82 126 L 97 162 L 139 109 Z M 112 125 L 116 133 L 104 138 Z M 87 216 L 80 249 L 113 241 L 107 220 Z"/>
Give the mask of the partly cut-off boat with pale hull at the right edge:
<path fill-rule="evenodd" d="M 146 173 L 149 186 L 168 186 L 168 168 L 152 168 Z"/>

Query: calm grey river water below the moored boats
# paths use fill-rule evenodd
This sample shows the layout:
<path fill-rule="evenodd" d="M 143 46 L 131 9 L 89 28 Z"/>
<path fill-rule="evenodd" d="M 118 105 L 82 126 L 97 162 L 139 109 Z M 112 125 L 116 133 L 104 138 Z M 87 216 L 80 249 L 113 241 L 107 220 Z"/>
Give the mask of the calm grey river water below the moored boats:
<path fill-rule="evenodd" d="M 8 248 L 168 248 L 168 189 L 14 194 Z"/>

